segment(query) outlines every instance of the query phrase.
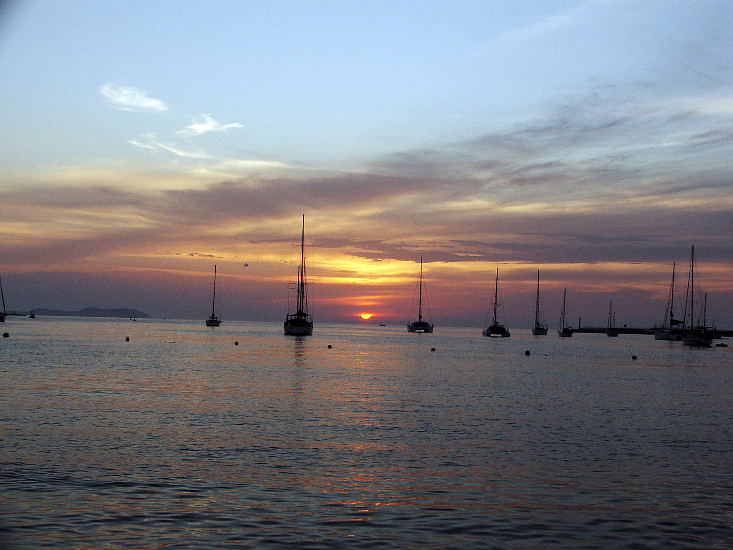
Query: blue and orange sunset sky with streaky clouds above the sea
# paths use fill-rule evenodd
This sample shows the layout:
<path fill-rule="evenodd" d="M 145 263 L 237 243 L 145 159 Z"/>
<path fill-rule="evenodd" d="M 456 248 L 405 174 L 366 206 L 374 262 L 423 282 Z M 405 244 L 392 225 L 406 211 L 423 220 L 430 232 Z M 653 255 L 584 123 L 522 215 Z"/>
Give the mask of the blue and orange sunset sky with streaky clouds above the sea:
<path fill-rule="evenodd" d="M 10 310 L 281 321 L 305 214 L 316 323 L 733 327 L 730 0 L 0 6 Z"/>

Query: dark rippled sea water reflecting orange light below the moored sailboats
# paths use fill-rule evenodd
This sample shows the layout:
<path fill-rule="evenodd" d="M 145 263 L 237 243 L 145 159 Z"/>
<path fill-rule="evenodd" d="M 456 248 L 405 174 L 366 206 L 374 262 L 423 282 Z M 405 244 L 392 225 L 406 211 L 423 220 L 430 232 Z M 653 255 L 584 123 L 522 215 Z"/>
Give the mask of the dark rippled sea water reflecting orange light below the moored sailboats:
<path fill-rule="evenodd" d="M 733 348 L 202 324 L 2 326 L 0 549 L 733 548 Z"/>

